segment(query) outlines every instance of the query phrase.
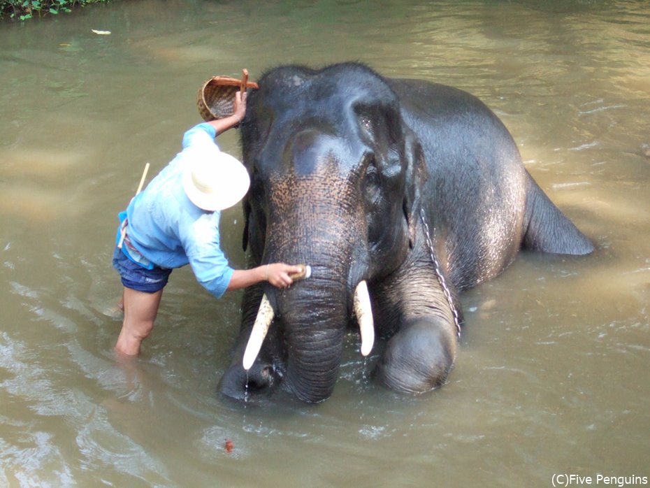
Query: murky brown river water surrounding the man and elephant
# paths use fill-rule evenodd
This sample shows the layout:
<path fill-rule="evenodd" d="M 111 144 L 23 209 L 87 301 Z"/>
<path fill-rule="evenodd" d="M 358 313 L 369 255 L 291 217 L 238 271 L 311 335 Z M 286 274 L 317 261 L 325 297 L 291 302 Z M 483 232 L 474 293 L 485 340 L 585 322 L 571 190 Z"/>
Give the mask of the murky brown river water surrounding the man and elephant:
<path fill-rule="evenodd" d="M 650 476 L 649 17 L 644 1 L 147 0 L 1 23 L 0 486 Z M 482 98 L 598 252 L 525 254 L 464 294 L 449 384 L 416 399 L 374 385 L 350 336 L 325 403 L 222 403 L 240 293 L 215 301 L 185 268 L 140 360 L 116 364 L 115 215 L 198 122 L 201 82 L 349 59 Z M 235 131 L 219 142 L 239 154 Z M 222 220 L 236 266 L 241 221 Z"/>

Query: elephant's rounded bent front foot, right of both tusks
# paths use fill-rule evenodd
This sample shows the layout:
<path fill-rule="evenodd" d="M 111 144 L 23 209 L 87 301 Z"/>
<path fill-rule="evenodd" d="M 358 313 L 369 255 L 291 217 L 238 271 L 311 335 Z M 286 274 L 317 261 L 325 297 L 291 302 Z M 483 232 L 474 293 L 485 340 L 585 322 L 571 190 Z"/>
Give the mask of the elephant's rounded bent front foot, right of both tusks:
<path fill-rule="evenodd" d="M 447 380 L 456 356 L 456 335 L 433 317 L 407 322 L 387 343 L 375 375 L 396 392 L 420 394 Z"/>

